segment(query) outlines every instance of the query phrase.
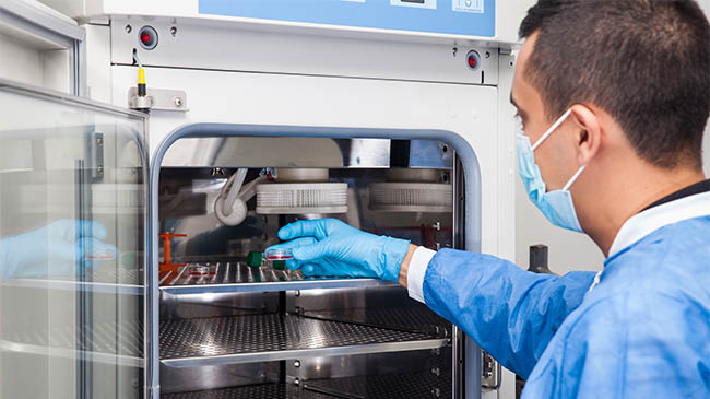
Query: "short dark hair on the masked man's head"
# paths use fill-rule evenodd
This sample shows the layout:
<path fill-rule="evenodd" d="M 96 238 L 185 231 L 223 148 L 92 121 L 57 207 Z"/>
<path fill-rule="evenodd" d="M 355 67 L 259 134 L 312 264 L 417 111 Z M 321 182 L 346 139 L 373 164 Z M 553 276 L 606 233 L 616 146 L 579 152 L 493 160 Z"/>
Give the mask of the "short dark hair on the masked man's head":
<path fill-rule="evenodd" d="M 651 164 L 702 164 L 710 26 L 695 1 L 539 0 L 520 26 L 535 33 L 524 75 L 549 119 L 594 104 Z"/>

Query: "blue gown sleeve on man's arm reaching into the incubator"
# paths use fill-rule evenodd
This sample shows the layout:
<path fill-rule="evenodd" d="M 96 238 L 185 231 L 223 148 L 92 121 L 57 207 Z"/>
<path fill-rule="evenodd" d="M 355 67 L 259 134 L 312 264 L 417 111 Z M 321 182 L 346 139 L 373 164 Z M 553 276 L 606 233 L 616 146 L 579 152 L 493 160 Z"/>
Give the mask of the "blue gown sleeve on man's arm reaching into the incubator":
<path fill-rule="evenodd" d="M 424 301 L 526 378 L 594 274 L 536 274 L 493 256 L 442 249 L 427 267 Z"/>

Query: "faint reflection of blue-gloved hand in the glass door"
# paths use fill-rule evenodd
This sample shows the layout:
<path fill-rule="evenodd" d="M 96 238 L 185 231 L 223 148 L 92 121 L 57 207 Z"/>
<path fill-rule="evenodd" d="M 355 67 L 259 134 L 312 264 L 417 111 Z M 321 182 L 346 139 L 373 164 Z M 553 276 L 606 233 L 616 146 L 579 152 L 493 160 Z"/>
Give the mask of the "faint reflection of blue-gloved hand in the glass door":
<path fill-rule="evenodd" d="M 76 232 L 79 228 L 79 232 Z M 49 225 L 0 240 L 0 275 L 72 277 L 76 262 L 116 259 L 118 249 L 102 242 L 106 227 L 98 222 L 58 220 Z"/>

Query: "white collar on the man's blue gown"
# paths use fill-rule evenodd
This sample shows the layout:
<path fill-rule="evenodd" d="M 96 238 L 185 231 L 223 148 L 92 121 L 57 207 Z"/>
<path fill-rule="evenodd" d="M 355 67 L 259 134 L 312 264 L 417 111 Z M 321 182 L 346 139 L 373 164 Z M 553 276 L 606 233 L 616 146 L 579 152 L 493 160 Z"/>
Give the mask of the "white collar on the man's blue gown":
<path fill-rule="evenodd" d="M 706 215 L 710 215 L 710 192 L 696 193 L 637 213 L 616 234 L 608 257 L 665 225 Z"/>

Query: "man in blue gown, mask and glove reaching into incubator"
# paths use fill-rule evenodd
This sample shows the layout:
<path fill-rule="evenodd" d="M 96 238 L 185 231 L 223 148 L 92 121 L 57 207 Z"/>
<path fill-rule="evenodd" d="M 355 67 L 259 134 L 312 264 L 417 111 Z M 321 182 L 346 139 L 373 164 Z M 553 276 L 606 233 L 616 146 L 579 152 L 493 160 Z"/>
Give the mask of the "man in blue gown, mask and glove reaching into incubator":
<path fill-rule="evenodd" d="M 689 0 L 540 0 L 520 34 L 520 175 L 604 271 L 533 274 L 334 220 L 280 231 L 289 267 L 399 282 L 523 376 L 528 398 L 710 397 L 707 19 Z"/>

